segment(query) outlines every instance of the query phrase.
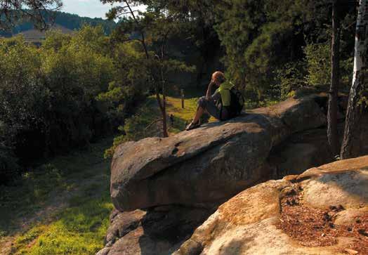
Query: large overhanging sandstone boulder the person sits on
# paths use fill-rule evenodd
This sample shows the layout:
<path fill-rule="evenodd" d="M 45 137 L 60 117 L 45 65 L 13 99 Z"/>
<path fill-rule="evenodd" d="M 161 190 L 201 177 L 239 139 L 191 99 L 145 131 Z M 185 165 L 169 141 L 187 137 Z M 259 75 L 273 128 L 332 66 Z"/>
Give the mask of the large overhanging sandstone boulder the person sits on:
<path fill-rule="evenodd" d="M 111 197 L 120 211 L 169 204 L 212 208 L 270 179 L 270 151 L 291 134 L 326 124 L 317 96 L 290 98 L 228 122 L 117 148 Z"/>

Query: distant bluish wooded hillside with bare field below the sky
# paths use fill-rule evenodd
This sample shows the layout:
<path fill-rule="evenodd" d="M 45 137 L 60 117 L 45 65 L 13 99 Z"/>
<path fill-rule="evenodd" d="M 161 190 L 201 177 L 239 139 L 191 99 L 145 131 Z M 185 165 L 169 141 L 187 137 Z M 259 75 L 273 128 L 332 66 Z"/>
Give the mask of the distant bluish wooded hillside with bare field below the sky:
<path fill-rule="evenodd" d="M 92 26 L 101 25 L 105 30 L 105 33 L 110 34 L 116 26 L 114 21 L 103 20 L 102 18 L 79 17 L 79 15 L 63 12 L 54 12 L 53 14 L 55 15 L 53 27 L 67 34 L 73 30 L 79 30 L 86 24 Z M 44 38 L 45 34 L 44 32 L 35 30 L 32 22 L 25 21 L 16 25 L 11 32 L 0 31 L 0 37 L 12 37 L 13 35 L 20 33 L 25 36 L 27 41 L 40 41 Z"/>

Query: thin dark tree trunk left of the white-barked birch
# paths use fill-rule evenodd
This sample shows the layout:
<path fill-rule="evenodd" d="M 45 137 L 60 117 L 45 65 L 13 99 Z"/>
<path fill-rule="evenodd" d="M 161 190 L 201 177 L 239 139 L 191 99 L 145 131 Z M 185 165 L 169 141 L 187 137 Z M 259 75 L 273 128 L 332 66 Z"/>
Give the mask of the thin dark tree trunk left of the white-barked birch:
<path fill-rule="evenodd" d="M 339 0 L 332 7 L 332 44 L 331 44 L 331 86 L 329 88 L 329 107 L 327 112 L 327 137 L 332 156 L 338 155 L 337 96 L 340 81 L 340 20 Z"/>

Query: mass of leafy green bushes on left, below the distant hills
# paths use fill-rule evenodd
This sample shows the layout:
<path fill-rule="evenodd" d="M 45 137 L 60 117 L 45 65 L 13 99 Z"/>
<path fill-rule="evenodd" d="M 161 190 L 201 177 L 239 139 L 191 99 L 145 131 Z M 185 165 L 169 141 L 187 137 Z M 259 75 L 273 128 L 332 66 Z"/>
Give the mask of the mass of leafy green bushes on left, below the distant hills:
<path fill-rule="evenodd" d="M 20 170 L 17 157 L 27 165 L 118 126 L 96 100 L 121 79 L 114 56 L 102 50 L 109 44 L 102 27 L 88 26 L 74 36 L 49 32 L 40 48 L 22 37 L 0 39 L 1 183 Z"/>

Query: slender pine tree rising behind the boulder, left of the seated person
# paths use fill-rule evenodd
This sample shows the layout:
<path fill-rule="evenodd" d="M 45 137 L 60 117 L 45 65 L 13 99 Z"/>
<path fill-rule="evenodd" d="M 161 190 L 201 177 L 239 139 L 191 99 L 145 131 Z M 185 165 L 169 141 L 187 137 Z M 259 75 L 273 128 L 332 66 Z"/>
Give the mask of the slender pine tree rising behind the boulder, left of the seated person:
<path fill-rule="evenodd" d="M 145 13 L 134 10 L 134 7 L 140 4 L 135 0 L 101 0 L 103 4 L 122 2 L 122 6 L 114 7 L 107 13 L 108 18 L 117 18 L 123 16 L 124 22 L 117 30 L 121 40 L 139 41 L 142 45 L 146 63 L 143 69 L 149 72 L 150 78 L 147 83 L 150 89 L 155 91 L 155 97 L 159 110 L 162 113 L 162 133 L 164 137 L 169 136 L 167 132 L 166 116 L 166 75 L 169 72 L 192 71 L 191 67 L 186 66 L 178 60 L 169 58 L 166 54 L 167 41 L 169 37 L 176 34 L 180 28 L 173 16 L 166 9 L 149 9 Z"/>

